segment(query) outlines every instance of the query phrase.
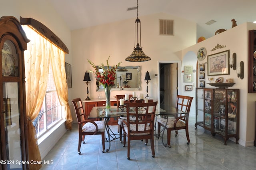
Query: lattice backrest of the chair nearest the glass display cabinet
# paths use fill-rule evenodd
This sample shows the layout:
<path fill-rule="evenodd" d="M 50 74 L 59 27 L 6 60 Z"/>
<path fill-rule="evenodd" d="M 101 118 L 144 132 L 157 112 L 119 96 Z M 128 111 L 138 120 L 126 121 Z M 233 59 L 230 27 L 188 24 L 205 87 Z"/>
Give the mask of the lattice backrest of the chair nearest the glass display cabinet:
<path fill-rule="evenodd" d="M 177 95 L 176 108 L 184 112 L 190 112 L 193 97 Z"/>

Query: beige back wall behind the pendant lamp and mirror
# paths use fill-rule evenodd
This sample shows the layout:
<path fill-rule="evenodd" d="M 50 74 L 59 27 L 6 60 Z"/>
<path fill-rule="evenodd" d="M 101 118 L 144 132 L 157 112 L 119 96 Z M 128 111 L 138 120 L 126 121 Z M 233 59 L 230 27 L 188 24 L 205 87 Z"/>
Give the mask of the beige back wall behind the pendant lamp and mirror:
<path fill-rule="evenodd" d="M 104 63 L 110 56 L 110 65 L 122 62 L 121 66 L 141 66 L 141 90 L 137 94 L 146 96 L 145 73 L 150 72 L 151 81 L 148 84 L 149 96 L 158 100 L 158 61 L 181 61 L 180 51 L 196 43 L 196 24 L 187 20 L 176 18 L 168 14 L 159 13 L 150 16 L 141 16 L 142 47 L 146 55 L 150 56 L 148 62 L 126 62 L 134 48 L 134 19 L 123 20 L 81 30 L 72 31 L 72 81 L 73 98 L 86 98 L 86 84 L 83 82 L 84 72 L 92 70 L 87 59 L 95 64 Z M 158 33 L 159 19 L 174 20 L 174 36 L 160 36 Z M 96 80 L 90 73 L 89 97 L 97 98 Z M 112 91 L 116 94 L 132 93 L 132 91 Z"/>

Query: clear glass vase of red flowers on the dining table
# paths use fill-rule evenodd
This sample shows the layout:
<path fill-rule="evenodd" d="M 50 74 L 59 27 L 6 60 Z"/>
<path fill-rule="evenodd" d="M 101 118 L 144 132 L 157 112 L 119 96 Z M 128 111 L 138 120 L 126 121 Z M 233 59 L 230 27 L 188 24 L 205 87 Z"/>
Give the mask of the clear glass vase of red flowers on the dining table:
<path fill-rule="evenodd" d="M 114 82 L 115 82 L 116 68 L 118 68 L 118 66 L 121 64 L 121 62 L 119 62 L 116 66 L 110 67 L 108 64 L 108 59 L 106 60 L 107 62 L 106 66 L 104 66 L 104 64 L 101 64 L 100 66 L 96 66 L 92 61 L 88 60 L 88 62 L 95 69 L 94 71 L 90 71 L 90 72 L 93 72 L 97 81 L 100 84 L 102 84 L 102 86 L 104 87 L 105 94 L 106 94 L 106 109 L 110 109 L 110 90 L 112 85 L 114 85 Z M 103 71 L 100 72 L 99 68 L 101 68 Z"/>

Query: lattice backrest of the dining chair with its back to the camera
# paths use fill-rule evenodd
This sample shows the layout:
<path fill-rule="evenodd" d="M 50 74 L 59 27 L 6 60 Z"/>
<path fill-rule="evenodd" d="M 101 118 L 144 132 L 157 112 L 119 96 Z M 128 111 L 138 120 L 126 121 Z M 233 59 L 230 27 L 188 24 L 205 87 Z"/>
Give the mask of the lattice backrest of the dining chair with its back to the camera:
<path fill-rule="evenodd" d="M 154 120 L 157 102 L 126 104 L 128 130 L 134 134 L 152 134 L 154 131 Z M 150 126 L 148 129 L 147 125 Z M 132 128 L 131 128 L 132 127 Z"/>

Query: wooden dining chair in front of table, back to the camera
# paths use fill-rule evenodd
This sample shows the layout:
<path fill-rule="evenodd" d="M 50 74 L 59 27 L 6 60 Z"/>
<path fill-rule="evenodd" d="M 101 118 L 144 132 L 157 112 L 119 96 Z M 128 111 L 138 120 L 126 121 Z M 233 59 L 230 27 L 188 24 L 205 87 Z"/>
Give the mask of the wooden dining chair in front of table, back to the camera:
<path fill-rule="evenodd" d="M 121 126 L 124 131 L 124 144 L 127 144 L 127 159 L 130 160 L 130 142 L 132 140 L 146 140 L 145 145 L 150 139 L 152 157 L 155 157 L 154 150 L 154 120 L 157 102 L 126 104 L 127 121 L 122 120 Z M 133 118 L 132 120 L 130 118 Z"/>

